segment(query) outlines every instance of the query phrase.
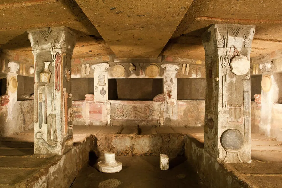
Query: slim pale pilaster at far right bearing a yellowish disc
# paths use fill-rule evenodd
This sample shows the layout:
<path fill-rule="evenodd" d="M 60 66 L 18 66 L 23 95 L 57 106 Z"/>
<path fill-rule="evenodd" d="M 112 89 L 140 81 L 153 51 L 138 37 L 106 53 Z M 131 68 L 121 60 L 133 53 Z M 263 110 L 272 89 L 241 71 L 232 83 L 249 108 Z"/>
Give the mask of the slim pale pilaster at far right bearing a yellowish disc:
<path fill-rule="evenodd" d="M 278 90 L 273 86 L 274 78 L 272 74 L 273 63 L 271 61 L 260 64 L 261 69 L 261 120 L 259 131 L 270 136 L 272 104 L 274 94 Z"/>

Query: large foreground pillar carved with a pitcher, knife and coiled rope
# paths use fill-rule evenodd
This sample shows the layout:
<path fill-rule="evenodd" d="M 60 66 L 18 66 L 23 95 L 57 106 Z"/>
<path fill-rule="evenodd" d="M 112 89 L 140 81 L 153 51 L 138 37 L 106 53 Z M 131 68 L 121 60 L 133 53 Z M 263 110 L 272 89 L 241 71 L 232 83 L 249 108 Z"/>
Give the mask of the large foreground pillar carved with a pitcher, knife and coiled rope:
<path fill-rule="evenodd" d="M 63 154 L 73 144 L 71 57 L 66 27 L 28 31 L 34 55 L 34 153 Z"/>

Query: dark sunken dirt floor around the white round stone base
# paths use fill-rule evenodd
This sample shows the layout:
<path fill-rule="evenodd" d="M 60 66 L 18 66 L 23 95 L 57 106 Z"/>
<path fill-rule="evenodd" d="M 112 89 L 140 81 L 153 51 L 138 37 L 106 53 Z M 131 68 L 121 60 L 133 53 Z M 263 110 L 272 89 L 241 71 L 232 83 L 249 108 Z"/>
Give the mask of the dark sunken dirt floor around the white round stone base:
<path fill-rule="evenodd" d="M 160 158 L 156 156 L 116 156 L 116 160 L 122 162 L 122 171 L 99 172 L 96 162 L 100 160 L 97 160 L 79 172 L 71 188 L 206 188 L 184 157 L 171 159 L 169 170 L 165 171 L 160 170 Z"/>

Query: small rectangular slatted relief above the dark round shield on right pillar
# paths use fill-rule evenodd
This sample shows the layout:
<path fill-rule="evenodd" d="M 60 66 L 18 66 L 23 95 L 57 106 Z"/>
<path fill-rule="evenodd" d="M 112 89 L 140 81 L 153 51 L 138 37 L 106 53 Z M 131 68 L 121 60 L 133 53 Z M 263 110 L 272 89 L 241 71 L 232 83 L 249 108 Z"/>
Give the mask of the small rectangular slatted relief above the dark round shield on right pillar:
<path fill-rule="evenodd" d="M 243 106 L 229 106 L 227 105 L 227 110 L 229 110 L 229 117 L 227 118 L 227 123 L 231 124 L 243 124 L 244 120 L 244 107 Z"/>

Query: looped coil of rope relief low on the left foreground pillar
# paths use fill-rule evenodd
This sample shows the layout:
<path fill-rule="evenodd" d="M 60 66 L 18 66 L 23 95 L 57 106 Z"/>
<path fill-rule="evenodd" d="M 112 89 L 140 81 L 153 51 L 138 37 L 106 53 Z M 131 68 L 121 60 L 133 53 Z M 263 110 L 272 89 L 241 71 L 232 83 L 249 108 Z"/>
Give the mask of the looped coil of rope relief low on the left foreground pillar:
<path fill-rule="evenodd" d="M 49 114 L 47 117 L 47 142 L 50 145 L 55 145 L 58 141 L 56 114 Z"/>

